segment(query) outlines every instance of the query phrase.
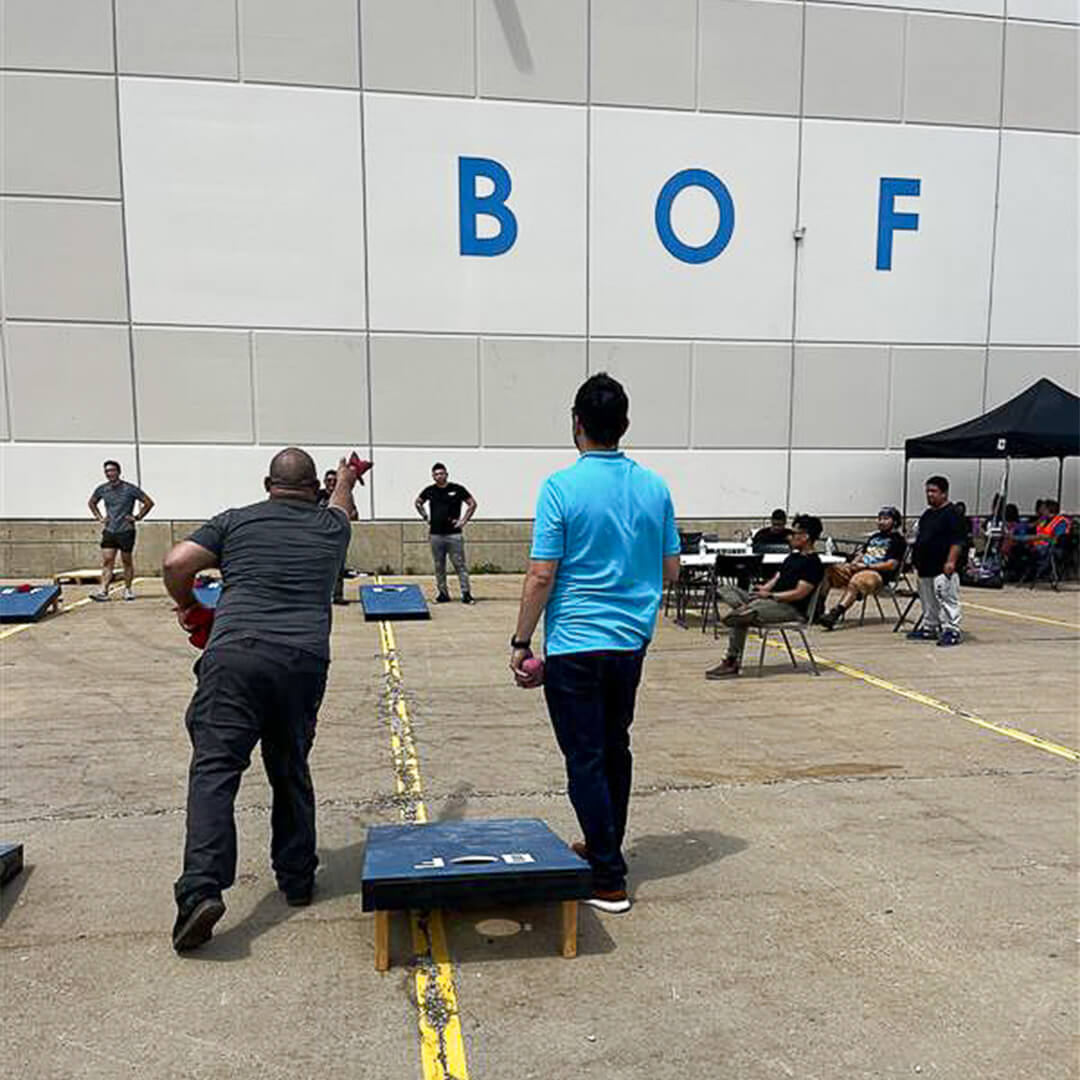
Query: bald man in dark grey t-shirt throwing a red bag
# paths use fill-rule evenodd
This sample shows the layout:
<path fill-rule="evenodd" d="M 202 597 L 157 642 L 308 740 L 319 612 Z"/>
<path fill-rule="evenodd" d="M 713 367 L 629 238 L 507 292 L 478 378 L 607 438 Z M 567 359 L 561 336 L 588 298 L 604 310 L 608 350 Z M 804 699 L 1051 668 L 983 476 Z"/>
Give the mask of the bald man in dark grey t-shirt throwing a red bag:
<path fill-rule="evenodd" d="M 269 498 L 211 518 L 165 557 L 165 588 L 185 630 L 205 618 L 198 573 L 220 567 L 221 598 L 185 723 L 191 739 L 184 872 L 176 881 L 173 947 L 208 941 L 237 869 L 233 802 L 261 742 L 273 792 L 270 856 L 292 906 L 311 903 L 315 793 L 308 754 L 329 665 L 330 598 L 349 546 L 356 473 L 342 458 L 325 505 L 315 463 L 281 450 L 264 481 Z"/>

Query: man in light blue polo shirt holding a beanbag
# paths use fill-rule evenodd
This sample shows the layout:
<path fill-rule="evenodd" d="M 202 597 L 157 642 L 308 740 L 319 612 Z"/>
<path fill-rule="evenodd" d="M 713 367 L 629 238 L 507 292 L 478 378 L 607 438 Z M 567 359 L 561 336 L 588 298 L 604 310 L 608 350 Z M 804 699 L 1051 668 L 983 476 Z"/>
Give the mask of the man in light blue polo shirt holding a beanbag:
<path fill-rule="evenodd" d="M 518 686 L 544 615 L 544 697 L 566 758 L 570 802 L 584 833 L 573 849 L 593 867 L 586 903 L 630 910 L 622 839 L 630 802 L 630 726 L 665 581 L 678 577 L 679 538 L 667 485 L 631 461 L 619 440 L 630 402 L 608 375 L 573 401 L 581 456 L 544 481 L 510 666 Z"/>

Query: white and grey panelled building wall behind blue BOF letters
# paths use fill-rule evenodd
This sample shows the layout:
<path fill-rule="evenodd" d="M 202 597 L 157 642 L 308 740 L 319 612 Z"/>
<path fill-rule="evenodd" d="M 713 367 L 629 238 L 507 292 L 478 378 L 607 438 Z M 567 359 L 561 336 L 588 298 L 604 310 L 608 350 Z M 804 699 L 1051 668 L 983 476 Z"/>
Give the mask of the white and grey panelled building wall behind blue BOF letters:
<path fill-rule="evenodd" d="M 436 457 L 528 517 L 602 369 L 684 516 L 899 502 L 908 435 L 1080 391 L 1078 41 L 1078 0 L 0 0 L 0 516 L 118 457 L 198 517 L 299 443 L 374 457 L 368 517 Z M 503 254 L 461 254 L 463 157 Z M 733 206 L 705 261 L 658 233 L 683 170 Z M 915 504 L 937 465 L 1000 473 Z"/>

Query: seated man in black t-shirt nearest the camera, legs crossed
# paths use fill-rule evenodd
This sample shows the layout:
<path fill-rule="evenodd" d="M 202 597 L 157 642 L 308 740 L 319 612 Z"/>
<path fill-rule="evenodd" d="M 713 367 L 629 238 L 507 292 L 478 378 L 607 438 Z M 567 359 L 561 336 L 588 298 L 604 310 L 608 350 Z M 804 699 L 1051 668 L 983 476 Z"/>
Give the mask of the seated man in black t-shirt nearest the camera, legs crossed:
<path fill-rule="evenodd" d="M 778 573 L 764 585 L 756 585 L 750 591 L 735 585 L 724 585 L 717 591 L 717 597 L 731 608 L 723 620 L 730 627 L 731 635 L 728 638 L 728 654 L 716 667 L 705 672 L 705 678 L 729 678 L 739 674 L 746 647 L 746 631 L 751 626 L 767 626 L 807 617 L 810 595 L 825 576 L 825 568 L 813 550 L 814 541 L 821 536 L 821 518 L 799 514 L 792 525 L 791 545 L 794 551 L 781 564 Z"/>

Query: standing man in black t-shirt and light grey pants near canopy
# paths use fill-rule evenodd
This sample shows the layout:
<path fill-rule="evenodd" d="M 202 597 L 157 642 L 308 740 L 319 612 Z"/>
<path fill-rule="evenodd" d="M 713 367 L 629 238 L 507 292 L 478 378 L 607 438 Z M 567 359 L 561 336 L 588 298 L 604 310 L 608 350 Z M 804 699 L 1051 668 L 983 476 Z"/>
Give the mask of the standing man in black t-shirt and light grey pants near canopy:
<path fill-rule="evenodd" d="M 912 562 L 919 575 L 922 619 L 907 636 L 912 640 L 960 644 L 960 556 L 967 529 L 948 501 L 948 481 L 931 476 L 927 481 L 928 509 L 919 518 Z"/>

